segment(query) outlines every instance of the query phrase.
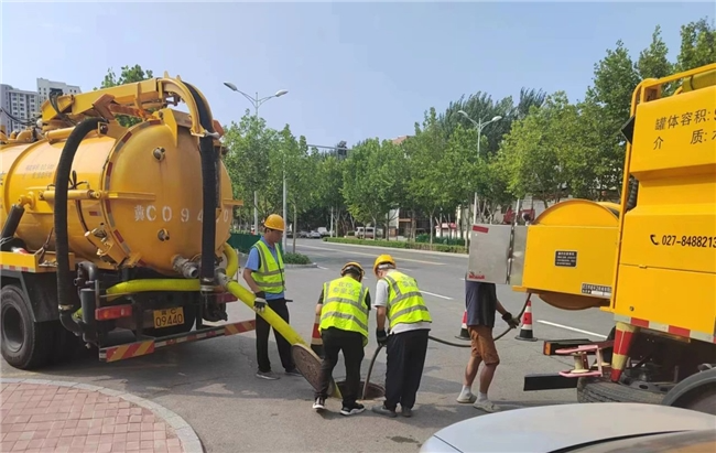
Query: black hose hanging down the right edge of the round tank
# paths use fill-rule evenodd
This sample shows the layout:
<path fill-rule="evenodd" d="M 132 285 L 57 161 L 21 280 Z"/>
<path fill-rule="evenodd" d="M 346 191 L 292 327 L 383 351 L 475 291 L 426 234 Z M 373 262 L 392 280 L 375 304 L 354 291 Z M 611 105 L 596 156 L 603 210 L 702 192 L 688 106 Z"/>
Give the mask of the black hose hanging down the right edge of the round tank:
<path fill-rule="evenodd" d="M 199 114 L 199 123 L 208 132 L 214 133 L 214 121 L 211 114 L 198 95 L 196 88 L 184 83 L 188 88 Z M 216 207 L 218 205 L 217 185 L 218 171 L 216 165 L 216 153 L 214 151 L 214 138 L 205 136 L 199 139 L 199 153 L 202 155 L 202 191 L 203 191 L 203 217 L 202 217 L 202 267 L 199 282 L 202 291 L 214 291 L 216 278 L 214 274 L 215 248 L 216 248 Z"/>

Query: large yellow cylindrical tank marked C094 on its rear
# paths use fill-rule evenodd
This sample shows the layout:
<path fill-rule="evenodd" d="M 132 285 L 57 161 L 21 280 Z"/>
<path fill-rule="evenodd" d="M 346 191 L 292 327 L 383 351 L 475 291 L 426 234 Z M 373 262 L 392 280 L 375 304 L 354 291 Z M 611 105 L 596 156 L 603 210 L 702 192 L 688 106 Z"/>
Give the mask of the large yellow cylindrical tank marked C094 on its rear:
<path fill-rule="evenodd" d="M 15 201 L 24 199 L 15 236 L 31 250 L 55 250 L 54 181 L 66 134 L 48 133 L 48 139 L 0 151 L 0 222 L 6 223 Z M 234 202 L 220 160 L 218 168 L 223 206 L 214 246 L 220 255 Z M 69 251 L 105 269 L 137 265 L 177 276 L 176 257 L 193 259 L 202 252 L 202 196 L 200 157 L 188 129 L 150 120 L 118 138 L 93 133 L 79 144 L 72 165 Z"/>

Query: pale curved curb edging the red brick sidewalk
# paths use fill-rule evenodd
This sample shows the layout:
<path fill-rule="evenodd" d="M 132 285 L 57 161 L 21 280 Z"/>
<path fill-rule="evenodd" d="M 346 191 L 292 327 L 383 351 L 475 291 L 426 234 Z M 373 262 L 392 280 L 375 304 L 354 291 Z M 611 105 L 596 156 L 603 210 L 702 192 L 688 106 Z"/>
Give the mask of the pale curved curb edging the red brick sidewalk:
<path fill-rule="evenodd" d="M 196 435 L 196 432 L 186 422 L 186 420 L 180 417 L 176 412 L 173 412 L 161 405 L 158 405 L 144 398 L 140 398 L 135 395 L 126 391 L 112 390 L 106 387 L 93 386 L 89 384 L 70 382 L 68 380 L 15 379 L 0 377 L 0 384 L 33 384 L 36 386 L 74 387 L 82 390 L 98 391 L 109 397 L 119 397 L 124 401 L 141 406 L 142 408 L 150 410 L 154 417 L 166 421 L 166 423 L 172 427 L 178 436 L 180 442 L 182 443 L 182 449 L 185 453 L 205 453 L 204 445 L 202 444 L 199 436 Z"/>

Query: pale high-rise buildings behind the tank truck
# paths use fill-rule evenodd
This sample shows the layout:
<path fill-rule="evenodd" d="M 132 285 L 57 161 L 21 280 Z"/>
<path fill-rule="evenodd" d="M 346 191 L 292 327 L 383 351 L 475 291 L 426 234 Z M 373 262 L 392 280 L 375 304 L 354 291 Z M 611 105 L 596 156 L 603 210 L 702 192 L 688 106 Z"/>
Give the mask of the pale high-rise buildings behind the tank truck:
<path fill-rule="evenodd" d="M 37 90 L 28 91 L 12 85 L 0 84 L 0 127 L 8 134 L 13 130 L 22 130 L 25 123 L 34 120 L 40 115 L 42 103 L 47 100 L 53 90 L 63 95 L 82 93 L 78 86 L 67 85 L 64 82 L 53 82 L 37 78 Z"/>

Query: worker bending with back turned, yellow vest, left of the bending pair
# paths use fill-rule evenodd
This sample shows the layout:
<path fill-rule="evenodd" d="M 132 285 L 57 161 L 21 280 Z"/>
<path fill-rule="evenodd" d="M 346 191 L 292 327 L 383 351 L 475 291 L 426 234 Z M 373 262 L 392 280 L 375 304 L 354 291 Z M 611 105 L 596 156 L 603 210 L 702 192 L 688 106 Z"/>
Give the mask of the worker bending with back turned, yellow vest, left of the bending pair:
<path fill-rule="evenodd" d="M 313 408 L 326 408 L 328 386 L 333 369 L 343 352 L 346 364 L 346 387 L 341 390 L 340 413 L 352 416 L 366 408 L 356 402 L 360 395 L 360 364 L 368 344 L 368 312 L 370 293 L 361 282 L 365 271 L 360 263 L 348 262 L 340 270 L 340 278 L 323 284 L 316 305 L 321 316 L 318 330 L 323 339 L 324 359 L 321 365 L 321 385 L 315 392 Z"/>

